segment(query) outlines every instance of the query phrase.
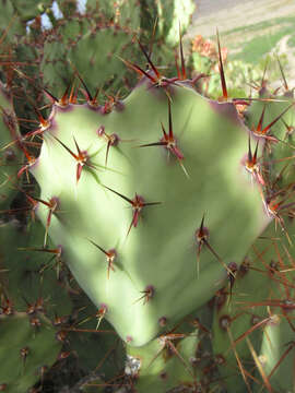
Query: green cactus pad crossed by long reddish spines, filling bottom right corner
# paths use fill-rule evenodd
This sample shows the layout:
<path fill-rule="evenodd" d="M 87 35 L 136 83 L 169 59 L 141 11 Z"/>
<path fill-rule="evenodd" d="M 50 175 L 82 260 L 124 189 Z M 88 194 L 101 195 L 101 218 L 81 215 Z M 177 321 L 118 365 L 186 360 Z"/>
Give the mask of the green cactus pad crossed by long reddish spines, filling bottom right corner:
<path fill-rule="evenodd" d="M 258 366 L 249 345 L 260 359 L 267 378 L 270 376 L 269 383 L 274 391 L 293 390 L 292 359 L 279 360 L 294 335 L 294 250 L 288 248 L 288 239 L 294 240 L 295 228 L 290 218 L 285 219 L 283 231 L 276 226 L 272 223 L 253 243 L 237 273 L 232 301 L 215 310 L 213 349 L 215 355 L 224 357 L 219 370 L 231 392 L 244 392 L 247 389 L 245 380 L 257 392 L 266 385 L 263 377 L 256 370 Z"/>

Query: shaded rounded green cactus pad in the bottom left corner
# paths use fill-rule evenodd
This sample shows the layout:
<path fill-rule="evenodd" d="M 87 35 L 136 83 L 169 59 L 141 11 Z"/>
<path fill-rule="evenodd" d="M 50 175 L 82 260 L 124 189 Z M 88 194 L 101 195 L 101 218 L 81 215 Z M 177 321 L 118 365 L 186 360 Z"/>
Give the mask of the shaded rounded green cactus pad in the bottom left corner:
<path fill-rule="evenodd" d="M 0 385 L 7 393 L 24 393 L 58 357 L 61 343 L 56 329 L 43 315 L 38 326 L 24 312 L 0 315 Z"/>

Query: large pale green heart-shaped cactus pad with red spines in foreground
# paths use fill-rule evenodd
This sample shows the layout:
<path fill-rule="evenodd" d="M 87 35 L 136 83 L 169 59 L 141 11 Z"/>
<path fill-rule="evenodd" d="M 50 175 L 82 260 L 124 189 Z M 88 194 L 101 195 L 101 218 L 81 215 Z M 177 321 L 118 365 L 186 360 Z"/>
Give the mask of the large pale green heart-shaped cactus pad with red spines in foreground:
<path fill-rule="evenodd" d="M 235 106 L 163 83 L 144 76 L 107 115 L 56 102 L 30 168 L 46 234 L 134 346 L 209 300 L 270 222 Z"/>

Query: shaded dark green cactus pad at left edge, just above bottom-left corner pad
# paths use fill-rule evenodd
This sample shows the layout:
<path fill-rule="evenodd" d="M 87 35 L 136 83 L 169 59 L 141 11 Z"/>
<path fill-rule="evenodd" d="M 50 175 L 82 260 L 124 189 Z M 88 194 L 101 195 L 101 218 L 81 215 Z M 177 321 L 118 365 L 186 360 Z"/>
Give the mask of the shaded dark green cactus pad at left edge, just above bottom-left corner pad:
<path fill-rule="evenodd" d="M 52 243 L 48 243 L 48 252 L 43 250 L 42 224 L 36 221 L 24 230 L 9 223 L 0 228 L 0 265 L 4 271 L 0 283 L 13 307 L 26 311 L 42 299 L 47 317 L 69 315 L 72 302 L 62 278 L 62 250 L 59 255 Z"/>

